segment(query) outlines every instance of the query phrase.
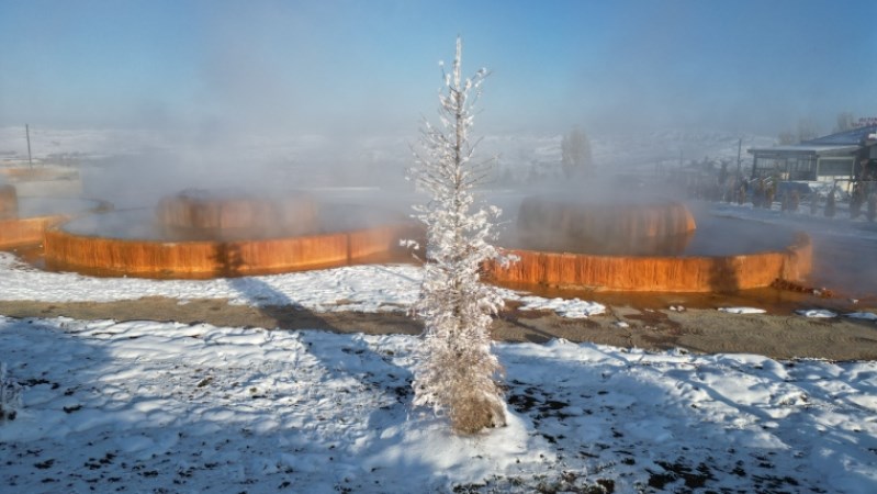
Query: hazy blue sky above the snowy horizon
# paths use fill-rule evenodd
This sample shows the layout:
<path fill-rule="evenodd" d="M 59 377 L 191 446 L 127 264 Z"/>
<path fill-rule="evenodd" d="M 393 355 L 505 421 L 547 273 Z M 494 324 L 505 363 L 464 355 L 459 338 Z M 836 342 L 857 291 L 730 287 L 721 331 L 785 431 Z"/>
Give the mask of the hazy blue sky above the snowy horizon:
<path fill-rule="evenodd" d="M 454 37 L 483 133 L 877 115 L 877 1 L 0 0 L 0 125 L 416 132 Z"/>

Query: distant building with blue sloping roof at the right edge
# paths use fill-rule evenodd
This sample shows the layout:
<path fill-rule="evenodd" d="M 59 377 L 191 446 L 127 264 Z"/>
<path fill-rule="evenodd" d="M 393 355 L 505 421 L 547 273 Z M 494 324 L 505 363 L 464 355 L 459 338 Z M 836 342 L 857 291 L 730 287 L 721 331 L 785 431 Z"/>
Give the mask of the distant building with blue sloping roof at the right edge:
<path fill-rule="evenodd" d="M 800 144 L 746 149 L 753 156 L 752 178 L 835 181 L 877 179 L 877 121 L 863 119 L 856 128 Z"/>

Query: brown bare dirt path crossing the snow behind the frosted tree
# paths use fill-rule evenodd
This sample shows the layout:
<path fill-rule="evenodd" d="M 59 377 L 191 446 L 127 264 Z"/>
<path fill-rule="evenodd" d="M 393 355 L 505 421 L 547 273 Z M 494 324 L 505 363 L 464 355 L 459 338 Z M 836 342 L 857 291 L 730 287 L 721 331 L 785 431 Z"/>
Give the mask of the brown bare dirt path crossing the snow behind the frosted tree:
<path fill-rule="evenodd" d="M 676 312 L 648 305 L 606 305 L 606 314 L 587 319 L 518 311 L 511 305 L 495 321 L 494 337 L 533 343 L 565 338 L 650 350 L 681 347 L 696 352 L 746 352 L 779 359 L 877 360 L 877 324 L 869 321 L 806 318 L 785 306 L 775 306 L 768 314 L 739 315 L 702 306 Z M 405 314 L 314 313 L 291 306 L 255 308 L 229 305 L 223 300 L 194 300 L 184 304 L 162 297 L 111 303 L 0 302 L 0 314 L 11 317 L 176 321 L 339 333 L 420 333 L 420 325 Z"/>

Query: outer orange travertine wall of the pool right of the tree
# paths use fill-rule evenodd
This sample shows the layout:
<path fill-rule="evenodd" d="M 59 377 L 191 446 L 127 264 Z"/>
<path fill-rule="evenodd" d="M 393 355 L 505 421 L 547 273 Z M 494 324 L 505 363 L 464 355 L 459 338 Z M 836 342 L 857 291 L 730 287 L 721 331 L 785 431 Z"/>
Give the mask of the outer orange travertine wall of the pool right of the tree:
<path fill-rule="evenodd" d="M 520 260 L 485 266 L 485 279 L 611 291 L 719 292 L 767 287 L 810 274 L 812 245 L 799 234 L 783 251 L 728 257 L 593 256 L 507 249 Z"/>

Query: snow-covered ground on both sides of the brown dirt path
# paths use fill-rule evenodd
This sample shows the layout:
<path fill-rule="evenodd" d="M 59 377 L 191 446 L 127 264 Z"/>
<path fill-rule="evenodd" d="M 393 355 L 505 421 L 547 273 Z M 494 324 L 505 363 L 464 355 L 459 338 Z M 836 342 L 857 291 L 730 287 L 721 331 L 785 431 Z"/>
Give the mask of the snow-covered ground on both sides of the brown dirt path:
<path fill-rule="evenodd" d="M 413 266 L 99 279 L 0 255 L 2 300 L 160 295 L 397 312 L 419 279 Z M 505 295 L 570 317 L 604 310 Z M 877 490 L 877 362 L 499 344 L 509 426 L 461 438 L 411 406 L 415 344 L 0 317 L 0 359 L 23 402 L 0 426 L 0 483 L 15 493 Z"/>

